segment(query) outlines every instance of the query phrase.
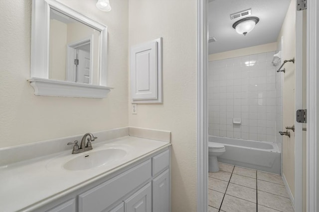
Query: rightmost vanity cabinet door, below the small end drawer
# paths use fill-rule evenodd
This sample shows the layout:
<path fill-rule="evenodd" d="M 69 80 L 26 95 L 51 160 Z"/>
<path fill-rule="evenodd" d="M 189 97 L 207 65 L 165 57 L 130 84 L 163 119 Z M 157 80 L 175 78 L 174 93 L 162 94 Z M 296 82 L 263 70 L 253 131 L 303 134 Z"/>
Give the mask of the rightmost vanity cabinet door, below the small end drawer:
<path fill-rule="evenodd" d="M 153 212 L 169 212 L 169 170 L 153 180 Z"/>

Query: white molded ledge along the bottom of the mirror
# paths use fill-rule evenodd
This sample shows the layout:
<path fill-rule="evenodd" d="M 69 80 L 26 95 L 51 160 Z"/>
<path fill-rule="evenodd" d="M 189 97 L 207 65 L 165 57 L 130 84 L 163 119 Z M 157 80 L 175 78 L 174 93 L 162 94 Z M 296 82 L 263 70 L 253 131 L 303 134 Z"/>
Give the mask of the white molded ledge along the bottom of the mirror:
<path fill-rule="evenodd" d="M 79 82 L 32 77 L 28 79 L 36 96 L 68 96 L 86 98 L 105 98 L 111 87 Z"/>

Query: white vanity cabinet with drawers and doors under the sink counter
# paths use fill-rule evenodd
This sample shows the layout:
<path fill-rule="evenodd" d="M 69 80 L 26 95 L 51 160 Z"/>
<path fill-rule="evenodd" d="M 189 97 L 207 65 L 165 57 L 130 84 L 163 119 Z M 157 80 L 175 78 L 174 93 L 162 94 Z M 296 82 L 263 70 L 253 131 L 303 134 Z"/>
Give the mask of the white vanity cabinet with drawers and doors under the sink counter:
<path fill-rule="evenodd" d="M 104 182 L 80 189 L 73 199 L 43 211 L 169 212 L 169 149 L 140 161 Z"/>

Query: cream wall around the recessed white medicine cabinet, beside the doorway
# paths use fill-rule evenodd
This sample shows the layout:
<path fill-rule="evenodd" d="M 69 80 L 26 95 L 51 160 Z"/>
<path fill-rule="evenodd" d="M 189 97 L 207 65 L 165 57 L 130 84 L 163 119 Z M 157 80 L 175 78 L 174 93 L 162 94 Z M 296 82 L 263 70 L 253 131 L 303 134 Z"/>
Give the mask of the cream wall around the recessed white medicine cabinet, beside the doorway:
<path fill-rule="evenodd" d="M 196 0 L 130 0 L 129 10 L 129 47 L 163 37 L 163 103 L 138 104 L 129 124 L 171 131 L 171 209 L 195 212 Z"/>

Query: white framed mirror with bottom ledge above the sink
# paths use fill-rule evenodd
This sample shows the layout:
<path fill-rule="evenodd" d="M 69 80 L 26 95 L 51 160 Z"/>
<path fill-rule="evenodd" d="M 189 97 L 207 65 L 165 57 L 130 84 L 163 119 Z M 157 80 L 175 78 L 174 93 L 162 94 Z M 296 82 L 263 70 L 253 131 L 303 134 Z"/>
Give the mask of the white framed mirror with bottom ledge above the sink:
<path fill-rule="evenodd" d="M 107 26 L 55 0 L 32 0 L 30 85 L 35 95 L 105 98 Z"/>

